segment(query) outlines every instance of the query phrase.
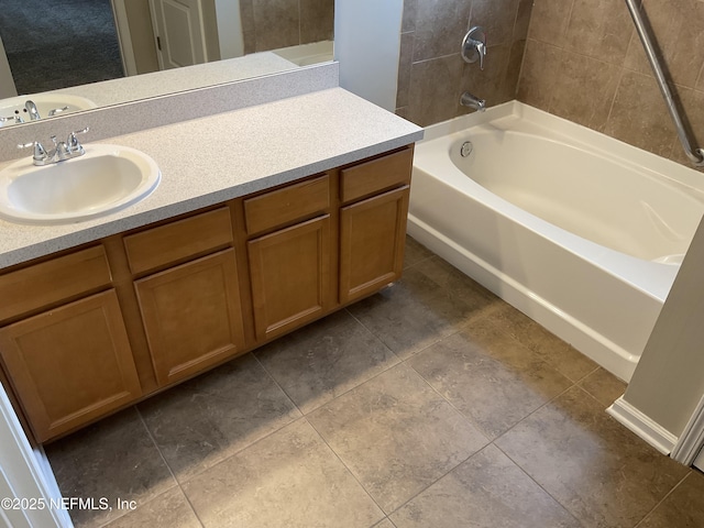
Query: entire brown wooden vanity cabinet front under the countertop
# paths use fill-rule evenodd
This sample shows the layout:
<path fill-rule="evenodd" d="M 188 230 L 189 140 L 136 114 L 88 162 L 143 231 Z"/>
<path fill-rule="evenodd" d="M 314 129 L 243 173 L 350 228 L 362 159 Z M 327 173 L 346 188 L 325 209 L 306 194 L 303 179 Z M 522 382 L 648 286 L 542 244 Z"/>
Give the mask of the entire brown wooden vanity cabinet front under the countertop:
<path fill-rule="evenodd" d="M 52 440 L 400 277 L 413 146 L 0 273 L 0 381 Z"/>

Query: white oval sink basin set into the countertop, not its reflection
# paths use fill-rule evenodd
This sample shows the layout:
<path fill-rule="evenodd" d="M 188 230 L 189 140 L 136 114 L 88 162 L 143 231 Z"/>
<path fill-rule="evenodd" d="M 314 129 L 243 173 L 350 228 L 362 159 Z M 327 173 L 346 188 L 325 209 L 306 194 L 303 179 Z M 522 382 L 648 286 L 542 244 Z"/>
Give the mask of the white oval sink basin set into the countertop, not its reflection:
<path fill-rule="evenodd" d="M 124 209 L 158 185 L 154 160 L 127 146 L 90 144 L 86 154 L 42 167 L 32 157 L 0 170 L 0 216 L 20 223 L 70 223 Z"/>

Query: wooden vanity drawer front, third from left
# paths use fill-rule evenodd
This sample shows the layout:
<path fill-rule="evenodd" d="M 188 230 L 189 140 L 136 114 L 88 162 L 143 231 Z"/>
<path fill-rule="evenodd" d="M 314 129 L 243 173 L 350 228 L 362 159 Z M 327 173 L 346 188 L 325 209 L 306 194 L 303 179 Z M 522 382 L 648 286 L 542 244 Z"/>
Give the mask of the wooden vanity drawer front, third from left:
<path fill-rule="evenodd" d="M 328 176 L 289 185 L 244 200 L 248 234 L 305 219 L 330 207 Z"/>

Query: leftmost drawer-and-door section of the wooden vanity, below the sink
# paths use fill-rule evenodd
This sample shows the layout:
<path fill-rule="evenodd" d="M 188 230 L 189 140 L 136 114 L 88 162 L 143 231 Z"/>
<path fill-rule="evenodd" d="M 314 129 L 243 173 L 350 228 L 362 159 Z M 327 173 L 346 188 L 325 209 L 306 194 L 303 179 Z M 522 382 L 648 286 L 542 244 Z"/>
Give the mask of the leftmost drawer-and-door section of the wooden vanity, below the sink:
<path fill-rule="evenodd" d="M 0 356 L 40 442 L 142 395 L 110 280 L 100 246 L 0 276 Z"/>

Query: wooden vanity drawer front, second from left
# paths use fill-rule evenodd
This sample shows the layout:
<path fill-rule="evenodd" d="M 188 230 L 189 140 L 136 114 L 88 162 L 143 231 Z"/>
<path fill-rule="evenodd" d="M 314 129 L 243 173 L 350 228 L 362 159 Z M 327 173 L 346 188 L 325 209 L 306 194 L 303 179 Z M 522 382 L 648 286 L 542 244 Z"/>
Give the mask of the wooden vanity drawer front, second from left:
<path fill-rule="evenodd" d="M 138 274 L 232 242 L 227 207 L 124 238 L 130 270 Z"/>

